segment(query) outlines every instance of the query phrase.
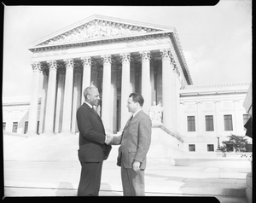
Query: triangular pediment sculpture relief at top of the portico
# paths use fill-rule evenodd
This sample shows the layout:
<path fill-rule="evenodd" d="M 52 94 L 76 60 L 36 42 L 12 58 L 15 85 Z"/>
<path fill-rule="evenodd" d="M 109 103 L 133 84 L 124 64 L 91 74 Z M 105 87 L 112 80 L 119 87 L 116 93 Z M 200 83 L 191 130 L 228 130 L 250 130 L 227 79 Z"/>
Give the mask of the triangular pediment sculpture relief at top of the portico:
<path fill-rule="evenodd" d="M 151 29 L 142 26 L 131 26 L 123 23 L 109 22 L 105 20 L 92 20 L 82 26 L 76 27 L 71 31 L 51 38 L 42 44 L 60 44 L 73 41 L 80 41 L 91 38 L 103 38 L 112 36 L 122 36 L 132 33 L 156 32 L 160 30 Z"/>

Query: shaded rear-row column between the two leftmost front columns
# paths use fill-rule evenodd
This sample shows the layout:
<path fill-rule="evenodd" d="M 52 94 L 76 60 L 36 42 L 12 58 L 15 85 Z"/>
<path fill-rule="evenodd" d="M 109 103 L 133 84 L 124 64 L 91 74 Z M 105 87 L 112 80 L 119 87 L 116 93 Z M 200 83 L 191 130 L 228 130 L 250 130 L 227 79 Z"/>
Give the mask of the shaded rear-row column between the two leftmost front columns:
<path fill-rule="evenodd" d="M 46 99 L 47 99 L 47 86 L 48 86 L 48 77 L 49 77 L 49 69 L 44 68 L 42 70 L 44 78 L 43 78 L 43 90 L 42 90 L 42 99 L 41 99 L 41 109 L 40 109 L 40 119 L 39 119 L 39 134 L 44 131 L 44 123 L 45 123 L 45 109 L 46 109 Z"/>

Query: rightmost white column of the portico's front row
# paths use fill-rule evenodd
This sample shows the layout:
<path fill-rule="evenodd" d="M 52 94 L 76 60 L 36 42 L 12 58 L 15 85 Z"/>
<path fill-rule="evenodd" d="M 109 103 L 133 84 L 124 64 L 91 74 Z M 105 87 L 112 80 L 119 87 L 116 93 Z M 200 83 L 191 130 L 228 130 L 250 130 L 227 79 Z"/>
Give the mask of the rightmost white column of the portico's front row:
<path fill-rule="evenodd" d="M 172 54 L 170 49 L 161 49 L 162 55 L 162 98 L 163 98 L 163 123 L 167 128 L 177 131 L 177 118 L 174 107 L 176 107 L 175 100 L 175 78 L 172 66 Z"/>

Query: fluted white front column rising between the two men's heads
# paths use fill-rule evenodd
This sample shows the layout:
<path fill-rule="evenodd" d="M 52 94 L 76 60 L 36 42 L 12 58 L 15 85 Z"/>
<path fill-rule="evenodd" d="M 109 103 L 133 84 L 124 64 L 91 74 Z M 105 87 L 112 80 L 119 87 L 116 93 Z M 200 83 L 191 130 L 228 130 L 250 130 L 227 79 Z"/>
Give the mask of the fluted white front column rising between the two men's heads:
<path fill-rule="evenodd" d="M 106 134 L 112 133 L 110 119 L 113 115 L 113 105 L 110 103 L 109 94 L 111 92 L 111 55 L 102 55 L 103 79 L 102 79 L 102 122 Z"/>

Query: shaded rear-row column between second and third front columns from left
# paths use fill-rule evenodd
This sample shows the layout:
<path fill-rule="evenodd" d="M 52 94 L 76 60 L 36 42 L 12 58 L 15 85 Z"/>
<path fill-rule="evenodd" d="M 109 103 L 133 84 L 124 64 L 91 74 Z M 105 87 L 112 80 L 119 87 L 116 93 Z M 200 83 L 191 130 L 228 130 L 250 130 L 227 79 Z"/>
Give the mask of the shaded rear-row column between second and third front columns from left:
<path fill-rule="evenodd" d="M 61 128 L 62 128 L 65 67 L 61 67 L 61 68 L 59 67 L 57 75 L 58 75 L 58 89 L 57 89 L 57 101 L 56 101 L 56 111 L 55 111 L 55 133 L 61 132 Z"/>

